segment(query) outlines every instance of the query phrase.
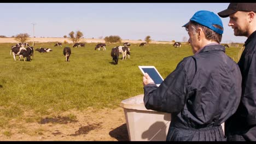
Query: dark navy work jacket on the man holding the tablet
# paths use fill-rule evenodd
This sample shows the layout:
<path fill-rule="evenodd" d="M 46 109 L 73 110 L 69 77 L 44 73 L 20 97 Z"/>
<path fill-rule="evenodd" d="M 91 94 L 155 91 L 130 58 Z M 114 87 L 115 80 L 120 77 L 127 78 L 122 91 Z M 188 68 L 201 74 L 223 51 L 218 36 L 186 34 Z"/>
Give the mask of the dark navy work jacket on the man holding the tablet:
<path fill-rule="evenodd" d="M 225 47 L 208 45 L 179 62 L 159 87 L 144 86 L 144 104 L 172 114 L 167 141 L 224 141 L 220 124 L 235 113 L 241 82 Z"/>

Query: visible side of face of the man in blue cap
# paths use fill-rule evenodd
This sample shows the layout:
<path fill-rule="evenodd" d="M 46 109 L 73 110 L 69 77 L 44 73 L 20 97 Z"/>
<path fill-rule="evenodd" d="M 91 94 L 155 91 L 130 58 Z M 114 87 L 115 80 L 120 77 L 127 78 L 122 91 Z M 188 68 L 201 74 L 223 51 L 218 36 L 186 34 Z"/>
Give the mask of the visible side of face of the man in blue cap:
<path fill-rule="evenodd" d="M 191 45 L 193 53 L 196 53 L 199 49 L 199 41 L 197 37 L 197 33 L 193 31 L 191 25 L 188 26 L 188 35 L 189 35 L 189 44 Z"/>

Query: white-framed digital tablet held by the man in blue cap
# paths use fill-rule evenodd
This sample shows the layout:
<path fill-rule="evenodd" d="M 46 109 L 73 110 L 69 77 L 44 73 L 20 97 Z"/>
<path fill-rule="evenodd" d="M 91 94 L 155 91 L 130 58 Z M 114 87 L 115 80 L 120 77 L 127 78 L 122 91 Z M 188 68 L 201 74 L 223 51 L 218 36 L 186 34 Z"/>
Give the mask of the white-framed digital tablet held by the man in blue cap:
<path fill-rule="evenodd" d="M 160 86 L 162 81 L 162 76 L 159 74 L 158 70 L 154 66 L 138 66 L 139 69 L 142 71 L 143 75 L 145 73 L 148 73 L 148 75 L 151 77 L 151 79 L 155 82 L 156 86 Z"/>

